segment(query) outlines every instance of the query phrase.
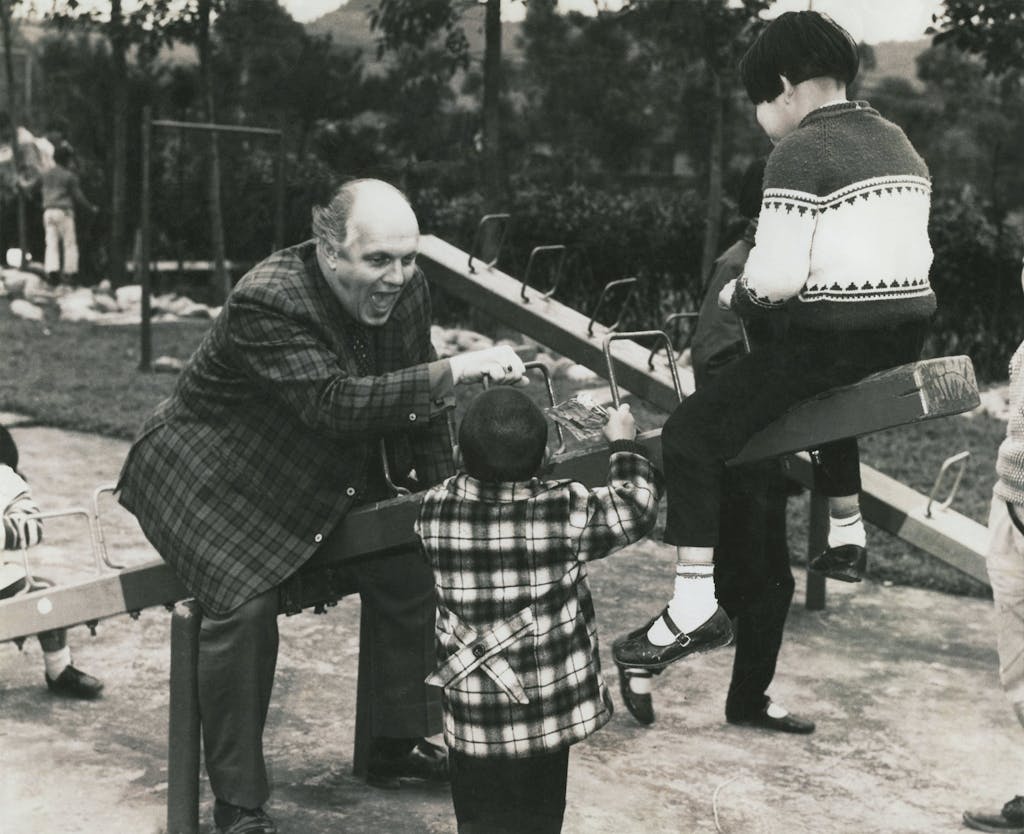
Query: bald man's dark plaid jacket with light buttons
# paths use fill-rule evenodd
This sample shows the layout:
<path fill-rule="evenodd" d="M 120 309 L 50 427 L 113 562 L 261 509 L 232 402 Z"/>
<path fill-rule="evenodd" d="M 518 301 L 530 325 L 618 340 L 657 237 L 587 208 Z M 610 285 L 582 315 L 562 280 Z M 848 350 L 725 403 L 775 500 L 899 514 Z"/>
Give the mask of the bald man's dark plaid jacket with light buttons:
<path fill-rule="evenodd" d="M 119 484 L 121 503 L 204 608 L 231 611 L 312 555 L 365 499 L 381 436 L 398 458 L 393 471 L 415 466 L 428 485 L 451 474 L 430 318 L 417 272 L 387 324 L 366 328 L 375 368 L 360 374 L 346 338 L 356 325 L 312 241 L 239 282 Z"/>

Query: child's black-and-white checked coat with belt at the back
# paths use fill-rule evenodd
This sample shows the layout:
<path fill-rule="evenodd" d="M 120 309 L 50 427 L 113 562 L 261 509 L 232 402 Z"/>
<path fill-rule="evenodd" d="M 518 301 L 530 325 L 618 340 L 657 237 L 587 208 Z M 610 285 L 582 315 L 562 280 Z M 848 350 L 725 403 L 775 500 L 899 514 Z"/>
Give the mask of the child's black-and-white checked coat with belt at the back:
<path fill-rule="evenodd" d="M 642 448 L 612 444 L 607 486 L 484 484 L 427 491 L 416 530 L 437 588 L 444 741 L 470 756 L 563 749 L 611 717 L 587 562 L 657 520 L 660 477 Z"/>

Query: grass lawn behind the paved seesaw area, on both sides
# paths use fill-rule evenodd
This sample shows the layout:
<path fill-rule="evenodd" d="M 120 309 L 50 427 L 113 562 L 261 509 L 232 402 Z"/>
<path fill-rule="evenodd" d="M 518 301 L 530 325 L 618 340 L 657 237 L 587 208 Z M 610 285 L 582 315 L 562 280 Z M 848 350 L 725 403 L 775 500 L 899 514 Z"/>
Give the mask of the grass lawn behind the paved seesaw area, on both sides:
<path fill-rule="evenodd" d="M 155 324 L 154 359 L 186 359 L 208 327 L 206 321 Z M 130 439 L 170 393 L 176 379 L 173 374 L 142 373 L 138 361 L 137 327 L 26 322 L 0 303 L 0 367 L 4 369 L 0 411 L 29 415 L 45 425 Z M 531 386 L 531 390 L 542 395 L 542 386 Z M 566 393 L 560 387 L 559 399 Z M 927 496 L 942 462 L 970 451 L 953 507 L 985 524 L 995 481 L 995 453 L 1005 432 L 1006 424 L 991 417 L 948 417 L 865 437 L 861 456 L 865 463 Z M 790 543 L 797 564 L 806 561 L 807 505 L 806 495 L 791 500 Z M 868 572 L 877 580 L 950 593 L 988 593 L 987 586 L 898 539 L 877 530 L 869 530 L 868 536 Z"/>

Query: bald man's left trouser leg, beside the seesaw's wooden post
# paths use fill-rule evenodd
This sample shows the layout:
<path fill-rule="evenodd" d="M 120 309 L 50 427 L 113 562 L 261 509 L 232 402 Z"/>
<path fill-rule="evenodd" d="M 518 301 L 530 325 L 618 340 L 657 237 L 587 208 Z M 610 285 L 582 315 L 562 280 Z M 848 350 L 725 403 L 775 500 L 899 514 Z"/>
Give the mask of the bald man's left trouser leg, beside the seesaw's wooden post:
<path fill-rule="evenodd" d="M 276 664 L 276 588 L 224 616 L 204 613 L 200 716 L 210 787 L 221 802 L 255 808 L 270 796 L 263 726 Z"/>

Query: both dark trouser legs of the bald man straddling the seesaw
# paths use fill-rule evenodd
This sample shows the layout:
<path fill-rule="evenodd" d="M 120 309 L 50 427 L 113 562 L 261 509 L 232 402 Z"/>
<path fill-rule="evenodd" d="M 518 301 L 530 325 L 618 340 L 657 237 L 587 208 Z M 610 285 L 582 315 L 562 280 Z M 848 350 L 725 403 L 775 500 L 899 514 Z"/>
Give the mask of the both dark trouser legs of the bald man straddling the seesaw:
<path fill-rule="evenodd" d="M 331 546 L 331 537 L 324 547 Z M 440 732 L 435 667 L 434 583 L 419 549 L 355 559 L 346 571 L 371 629 L 371 731 L 374 738 Z M 278 661 L 278 589 L 226 616 L 205 614 L 200 632 L 199 697 L 206 768 L 214 796 L 259 807 L 270 787 L 263 727 Z M 352 693 L 354 697 L 354 693 Z"/>

